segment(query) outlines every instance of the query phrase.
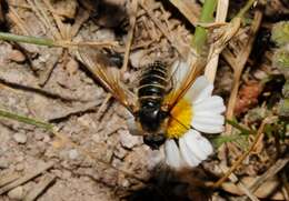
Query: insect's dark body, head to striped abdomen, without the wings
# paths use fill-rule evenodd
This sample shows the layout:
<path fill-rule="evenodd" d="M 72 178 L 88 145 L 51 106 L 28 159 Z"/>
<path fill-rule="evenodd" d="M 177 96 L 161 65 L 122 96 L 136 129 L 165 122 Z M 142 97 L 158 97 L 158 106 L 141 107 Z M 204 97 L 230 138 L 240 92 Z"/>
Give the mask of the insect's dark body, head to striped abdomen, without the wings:
<path fill-rule="evenodd" d="M 143 138 L 144 143 L 152 149 L 159 148 L 166 140 L 163 121 L 168 118 L 168 112 L 162 109 L 162 102 L 168 93 L 167 86 L 168 69 L 160 61 L 149 64 L 140 77 L 139 111 L 134 115 L 144 131 L 155 133 Z"/>

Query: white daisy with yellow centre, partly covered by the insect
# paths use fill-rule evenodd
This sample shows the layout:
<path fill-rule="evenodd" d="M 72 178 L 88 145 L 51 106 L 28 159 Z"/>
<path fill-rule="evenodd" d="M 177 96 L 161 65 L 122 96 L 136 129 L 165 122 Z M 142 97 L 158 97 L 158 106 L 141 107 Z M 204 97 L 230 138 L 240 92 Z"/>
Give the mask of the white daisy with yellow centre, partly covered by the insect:
<path fill-rule="evenodd" d="M 181 64 L 180 68 L 186 71 L 188 66 Z M 177 74 L 177 81 L 183 79 L 183 71 Z M 221 97 L 212 96 L 212 90 L 213 86 L 205 76 L 197 78 L 185 98 L 171 111 L 173 118 L 169 120 L 165 142 L 166 162 L 169 167 L 197 167 L 213 152 L 211 143 L 200 132 L 222 132 L 225 118 L 221 113 L 226 107 Z"/>

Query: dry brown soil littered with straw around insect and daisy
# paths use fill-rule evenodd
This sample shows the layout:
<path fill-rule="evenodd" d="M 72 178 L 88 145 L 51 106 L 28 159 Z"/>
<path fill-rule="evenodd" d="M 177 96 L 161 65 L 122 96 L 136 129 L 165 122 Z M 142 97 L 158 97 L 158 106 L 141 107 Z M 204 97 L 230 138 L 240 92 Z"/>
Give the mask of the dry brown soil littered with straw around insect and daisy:
<path fill-rule="evenodd" d="M 134 0 L 0 2 L 1 31 L 49 38 L 60 43 L 58 47 L 50 47 L 0 40 L 0 108 L 52 123 L 60 133 L 56 135 L 39 127 L 0 119 L 0 201 L 248 198 L 231 178 L 231 181 L 228 180 L 217 190 L 203 184 L 218 181 L 225 173 L 218 168 L 223 161 L 218 151 L 195 170 L 181 173 L 168 170 L 163 163 L 163 151 L 151 150 L 143 144 L 141 137 L 129 133 L 126 124 L 128 111 L 110 97 L 74 54 L 72 42 L 100 42 L 101 44 L 89 47 L 104 47 L 106 53 L 119 68 L 123 67 L 123 61 L 126 63 L 127 60 L 124 81 L 133 86 L 140 68 L 157 56 L 173 60 L 186 56 L 190 49 L 193 28 L 169 1 L 139 0 L 137 12 L 133 12 Z M 192 2 L 198 16 L 200 3 Z M 242 4 L 232 7 L 237 10 Z M 273 9 L 267 7 L 265 19 L 270 18 L 270 13 L 276 11 Z M 255 12 L 251 12 L 252 20 Z M 288 13 L 287 10 L 285 14 Z M 133 23 L 133 38 L 130 39 Z M 265 23 L 263 28 L 270 27 L 269 23 L 272 22 Z M 239 37 L 243 34 L 243 40 L 247 40 L 248 30 L 249 26 L 245 27 Z M 66 44 L 67 41 L 70 44 Z M 126 56 L 128 41 L 131 41 L 129 57 Z M 271 58 L 269 50 L 265 52 Z M 248 119 L 247 113 L 253 108 L 261 108 L 263 94 L 268 92 L 266 87 L 259 84 L 261 80 L 268 74 L 280 72 L 268 64 L 268 61 L 262 60 L 260 63 L 263 64 L 257 67 L 256 58 L 247 59 L 248 66 L 241 77 L 236 113 L 239 122 L 258 130 L 260 121 L 252 121 L 251 115 Z M 219 63 L 215 93 L 222 96 L 228 103 L 233 86 L 233 72 L 223 58 Z M 279 91 L 281 87 L 278 88 Z M 248 98 L 246 90 L 253 91 L 256 97 Z M 250 103 L 247 103 L 248 99 Z M 246 145 L 252 141 L 253 135 L 250 135 L 240 143 Z M 286 200 L 288 139 L 280 142 L 278 148 L 272 138 L 262 137 L 260 141 L 255 153 L 243 161 L 243 165 L 239 167 L 233 175 L 236 180 L 237 177 L 242 178 L 239 179 L 248 187 L 248 183 L 253 183 L 253 179 L 268 173 L 273 167 L 276 173 L 263 180 L 263 183 L 267 182 L 266 187 L 258 185 L 260 192 L 253 197 Z M 233 154 L 229 160 L 235 161 L 247 150 L 242 149 L 242 145 L 231 148 Z M 277 151 L 279 157 L 276 157 Z M 278 171 L 276 164 L 281 167 Z M 275 177 L 277 173 L 278 178 Z M 26 180 L 20 182 L 23 178 Z M 13 181 L 20 183 L 10 187 Z"/>

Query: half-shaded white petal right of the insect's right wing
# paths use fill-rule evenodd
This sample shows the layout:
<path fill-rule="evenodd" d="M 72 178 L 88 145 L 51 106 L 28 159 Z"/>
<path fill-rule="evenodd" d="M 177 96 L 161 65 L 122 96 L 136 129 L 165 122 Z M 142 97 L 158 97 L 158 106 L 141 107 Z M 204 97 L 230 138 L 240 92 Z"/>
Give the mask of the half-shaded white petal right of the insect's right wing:
<path fill-rule="evenodd" d="M 212 89 L 213 86 L 207 80 L 205 76 L 201 76 L 197 78 L 186 97 L 196 103 L 206 98 L 209 98 L 212 93 Z"/>

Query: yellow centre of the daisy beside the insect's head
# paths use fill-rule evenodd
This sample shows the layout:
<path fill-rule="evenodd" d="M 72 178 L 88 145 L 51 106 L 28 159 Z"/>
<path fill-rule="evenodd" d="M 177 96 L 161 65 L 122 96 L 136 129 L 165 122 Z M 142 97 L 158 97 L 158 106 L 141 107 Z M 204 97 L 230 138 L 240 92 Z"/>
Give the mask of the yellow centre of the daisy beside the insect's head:
<path fill-rule="evenodd" d="M 181 99 L 172 109 L 171 117 L 168 121 L 167 138 L 180 138 L 189 129 L 192 119 L 191 102 Z"/>

